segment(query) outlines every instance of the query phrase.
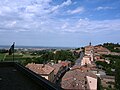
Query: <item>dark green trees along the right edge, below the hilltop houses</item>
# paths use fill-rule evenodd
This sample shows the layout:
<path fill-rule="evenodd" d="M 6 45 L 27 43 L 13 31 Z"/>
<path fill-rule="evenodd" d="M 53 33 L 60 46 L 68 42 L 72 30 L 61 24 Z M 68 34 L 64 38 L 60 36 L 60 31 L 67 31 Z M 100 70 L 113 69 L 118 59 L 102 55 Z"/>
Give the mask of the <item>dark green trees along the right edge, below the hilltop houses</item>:
<path fill-rule="evenodd" d="M 108 75 L 115 76 L 115 88 L 120 90 L 120 56 L 118 55 L 102 55 L 103 58 L 108 58 L 110 64 L 106 62 L 97 61 L 97 65 L 101 65 Z M 115 71 L 111 71 L 115 69 Z"/>

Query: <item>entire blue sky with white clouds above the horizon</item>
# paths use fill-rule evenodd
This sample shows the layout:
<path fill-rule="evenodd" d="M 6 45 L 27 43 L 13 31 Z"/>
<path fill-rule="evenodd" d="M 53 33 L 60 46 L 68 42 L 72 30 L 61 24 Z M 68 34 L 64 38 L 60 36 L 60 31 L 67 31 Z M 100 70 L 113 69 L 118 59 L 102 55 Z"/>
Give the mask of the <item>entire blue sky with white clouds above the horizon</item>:
<path fill-rule="evenodd" d="M 120 0 L 0 0 L 0 45 L 120 43 Z"/>

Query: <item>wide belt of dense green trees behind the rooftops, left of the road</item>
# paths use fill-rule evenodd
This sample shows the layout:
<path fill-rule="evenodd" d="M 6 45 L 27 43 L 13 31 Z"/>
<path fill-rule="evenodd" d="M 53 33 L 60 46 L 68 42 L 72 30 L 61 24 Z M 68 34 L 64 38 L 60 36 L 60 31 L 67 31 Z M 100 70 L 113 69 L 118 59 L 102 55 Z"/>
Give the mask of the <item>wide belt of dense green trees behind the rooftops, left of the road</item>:
<path fill-rule="evenodd" d="M 77 55 L 70 52 L 69 50 L 60 50 L 53 53 L 53 51 L 35 51 L 32 52 L 31 55 L 39 55 L 38 57 L 26 58 L 26 60 L 22 61 L 22 64 L 26 65 L 27 63 L 47 63 L 53 60 L 54 63 L 57 63 L 58 60 L 68 60 L 74 64 L 74 61 L 77 59 Z"/>

